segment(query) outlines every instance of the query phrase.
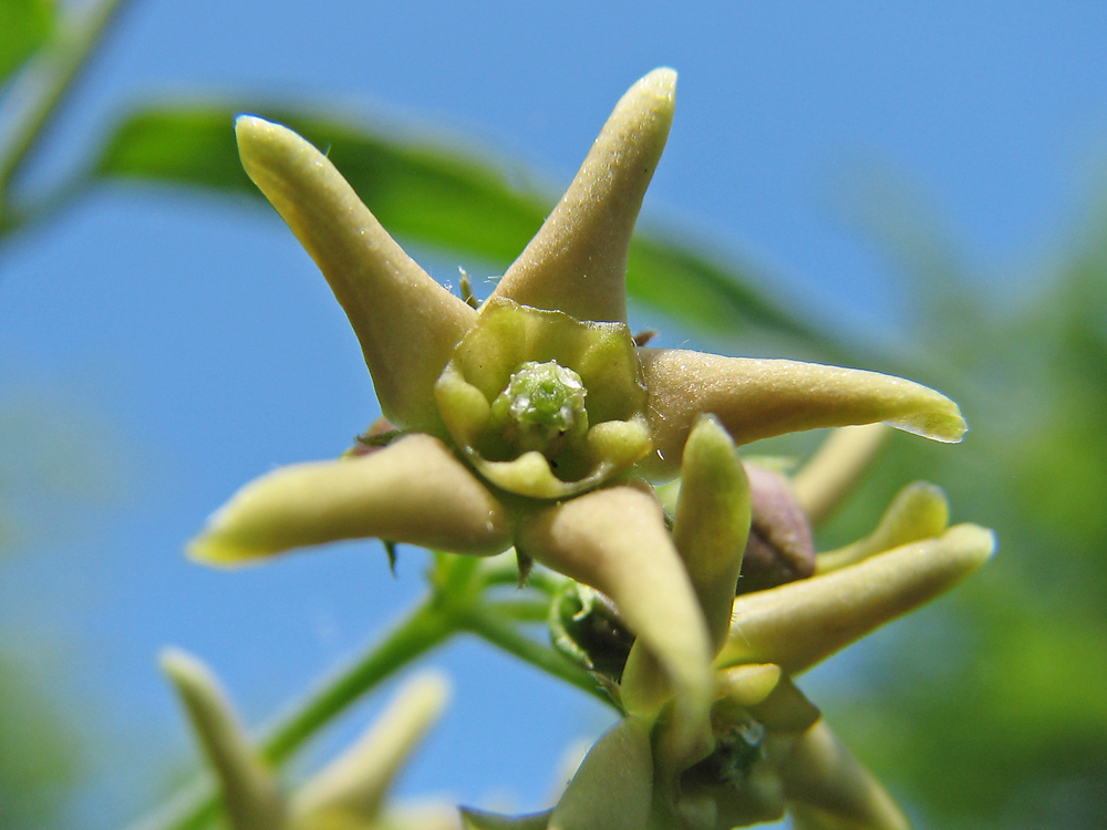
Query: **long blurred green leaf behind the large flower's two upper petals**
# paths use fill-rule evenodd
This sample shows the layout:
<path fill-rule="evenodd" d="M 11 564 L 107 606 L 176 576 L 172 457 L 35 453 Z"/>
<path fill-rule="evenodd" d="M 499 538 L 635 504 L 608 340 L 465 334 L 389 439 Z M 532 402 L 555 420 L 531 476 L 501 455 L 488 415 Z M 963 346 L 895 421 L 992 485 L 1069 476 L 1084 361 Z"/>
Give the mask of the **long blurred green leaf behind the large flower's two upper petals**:
<path fill-rule="evenodd" d="M 184 184 L 260 199 L 242 172 L 229 106 L 137 112 L 115 131 L 94 175 Z M 472 155 L 372 136 L 346 124 L 262 110 L 327 151 L 390 232 L 506 267 L 555 199 Z M 777 332 L 826 352 L 829 341 L 754 288 L 749 273 L 660 235 L 638 235 L 627 283 L 633 298 L 691 325 Z"/>

